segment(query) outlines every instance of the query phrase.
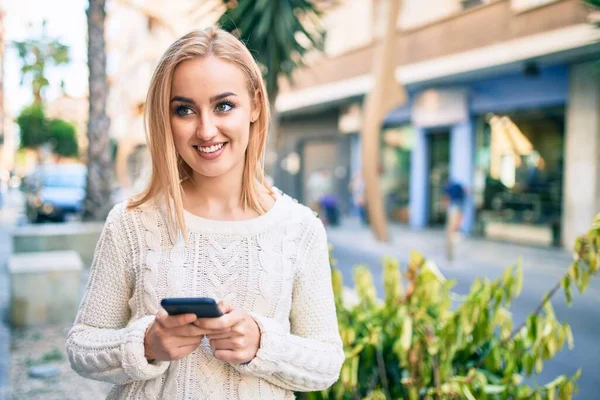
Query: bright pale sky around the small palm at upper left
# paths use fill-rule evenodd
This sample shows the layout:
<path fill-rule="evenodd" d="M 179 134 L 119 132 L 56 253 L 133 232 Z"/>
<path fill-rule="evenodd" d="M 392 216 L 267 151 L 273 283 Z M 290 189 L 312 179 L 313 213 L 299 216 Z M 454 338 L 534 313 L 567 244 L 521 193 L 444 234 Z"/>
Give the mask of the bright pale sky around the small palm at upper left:
<path fill-rule="evenodd" d="M 67 94 L 75 97 L 87 93 L 87 0 L 0 0 L 5 11 L 6 59 L 4 63 L 5 107 L 11 116 L 31 102 L 31 89 L 25 82 L 21 87 L 21 63 L 13 40 L 37 37 L 42 21 L 47 21 L 50 37 L 59 39 L 70 49 L 71 63 L 66 67 L 50 68 L 50 88 L 46 99 L 60 95 L 60 83 L 65 81 Z"/>

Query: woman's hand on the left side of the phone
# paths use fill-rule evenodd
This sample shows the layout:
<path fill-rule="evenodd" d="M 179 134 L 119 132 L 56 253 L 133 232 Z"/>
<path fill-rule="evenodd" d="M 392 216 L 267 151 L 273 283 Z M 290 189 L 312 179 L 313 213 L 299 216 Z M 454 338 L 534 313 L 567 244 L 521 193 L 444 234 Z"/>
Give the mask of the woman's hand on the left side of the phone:
<path fill-rule="evenodd" d="M 207 330 L 194 325 L 194 314 L 169 315 L 164 309 L 156 313 L 152 325 L 146 329 L 144 350 L 147 360 L 179 360 L 196 350 L 204 335 L 217 335 L 230 331 Z"/>

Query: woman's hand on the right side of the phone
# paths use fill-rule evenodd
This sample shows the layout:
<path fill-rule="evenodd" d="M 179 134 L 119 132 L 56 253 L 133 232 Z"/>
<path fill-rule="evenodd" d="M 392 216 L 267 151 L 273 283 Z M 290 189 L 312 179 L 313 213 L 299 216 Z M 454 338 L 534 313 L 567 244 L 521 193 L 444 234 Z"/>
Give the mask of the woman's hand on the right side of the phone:
<path fill-rule="evenodd" d="M 260 329 L 256 321 L 244 310 L 224 302 L 219 303 L 219 308 L 222 317 L 198 318 L 194 322 L 199 328 L 207 330 L 230 329 L 227 333 L 206 335 L 215 358 L 234 364 L 252 361 L 260 347 Z"/>

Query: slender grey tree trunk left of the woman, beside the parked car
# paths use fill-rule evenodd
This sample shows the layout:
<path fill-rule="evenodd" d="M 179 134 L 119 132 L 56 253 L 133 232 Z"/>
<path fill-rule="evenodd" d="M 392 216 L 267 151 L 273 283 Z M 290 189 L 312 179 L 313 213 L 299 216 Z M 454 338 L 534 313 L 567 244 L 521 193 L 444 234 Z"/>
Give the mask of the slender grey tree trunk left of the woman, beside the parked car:
<path fill-rule="evenodd" d="M 89 0 L 88 20 L 88 66 L 89 103 L 88 120 L 88 178 L 84 219 L 102 221 L 108 215 L 111 204 L 111 165 L 106 115 L 108 82 L 106 80 L 106 47 L 104 43 L 104 20 L 106 0 Z"/>

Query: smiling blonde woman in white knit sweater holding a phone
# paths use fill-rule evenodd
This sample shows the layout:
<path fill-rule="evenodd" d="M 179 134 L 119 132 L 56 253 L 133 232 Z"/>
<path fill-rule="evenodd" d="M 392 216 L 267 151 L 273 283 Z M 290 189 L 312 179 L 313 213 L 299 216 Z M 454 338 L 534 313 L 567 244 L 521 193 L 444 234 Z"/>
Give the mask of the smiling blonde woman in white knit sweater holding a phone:
<path fill-rule="evenodd" d="M 246 47 L 222 30 L 173 43 L 150 83 L 152 177 L 108 216 L 67 339 L 110 399 L 293 399 L 344 360 L 327 238 L 264 183 L 269 104 Z M 165 297 L 211 297 L 219 318 L 169 316 Z"/>

